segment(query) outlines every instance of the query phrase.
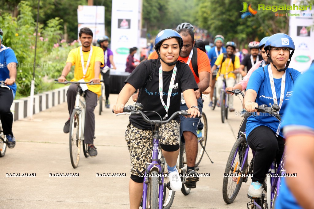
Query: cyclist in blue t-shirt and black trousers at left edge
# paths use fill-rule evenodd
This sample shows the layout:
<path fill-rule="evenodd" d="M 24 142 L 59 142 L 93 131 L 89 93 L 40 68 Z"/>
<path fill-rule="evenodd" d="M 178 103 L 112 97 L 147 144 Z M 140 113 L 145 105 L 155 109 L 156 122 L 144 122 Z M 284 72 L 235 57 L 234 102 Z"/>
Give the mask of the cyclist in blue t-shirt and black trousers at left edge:
<path fill-rule="evenodd" d="M 0 81 L 4 81 L 4 85 L 0 88 L 0 117 L 8 148 L 14 148 L 15 138 L 12 133 L 13 114 L 10 111 L 10 107 L 16 92 L 15 79 L 18 60 L 14 51 L 10 47 L 4 46 L 2 42 L 3 31 L 0 29 Z"/>

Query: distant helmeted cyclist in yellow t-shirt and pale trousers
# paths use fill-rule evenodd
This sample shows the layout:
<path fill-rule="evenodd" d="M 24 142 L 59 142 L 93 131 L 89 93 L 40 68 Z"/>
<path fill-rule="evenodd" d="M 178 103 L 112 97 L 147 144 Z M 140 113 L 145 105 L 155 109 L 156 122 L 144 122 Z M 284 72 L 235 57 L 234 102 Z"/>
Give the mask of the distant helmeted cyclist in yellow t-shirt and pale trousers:
<path fill-rule="evenodd" d="M 226 87 L 232 87 L 232 86 L 234 86 L 234 84 L 236 82 L 236 73 L 239 72 L 239 68 L 240 68 L 240 59 L 238 56 L 235 56 L 233 54 L 236 51 L 236 44 L 233 41 L 228 41 L 225 47 L 226 47 L 227 53 L 226 54 L 221 53 L 217 57 L 217 60 L 215 61 L 215 64 L 211 70 L 213 73 L 214 70 L 217 69 L 217 66 L 221 65 L 219 68 L 219 71 L 217 73 L 217 77 L 216 77 L 216 95 L 217 95 L 217 98 L 219 100 L 217 102 L 217 106 L 219 106 L 221 103 L 221 101 L 220 101 L 220 95 L 221 95 L 220 89 L 223 86 L 224 76 L 226 79 Z M 225 61 L 222 62 L 224 55 L 226 56 L 226 58 L 225 58 Z M 235 56 L 234 57 L 234 63 L 232 62 L 233 56 Z M 233 97 L 232 96 L 229 96 L 228 106 L 230 108 L 229 109 L 230 112 L 235 111 L 235 109 L 233 108 Z"/>

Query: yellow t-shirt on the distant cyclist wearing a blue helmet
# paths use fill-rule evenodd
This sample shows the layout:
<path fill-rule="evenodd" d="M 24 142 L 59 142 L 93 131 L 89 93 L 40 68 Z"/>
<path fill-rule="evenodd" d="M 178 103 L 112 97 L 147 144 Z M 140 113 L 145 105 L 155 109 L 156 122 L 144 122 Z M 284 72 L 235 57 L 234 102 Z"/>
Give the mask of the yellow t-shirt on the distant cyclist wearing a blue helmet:
<path fill-rule="evenodd" d="M 222 59 L 224 58 L 224 53 L 221 53 L 217 60 L 215 61 L 215 65 L 219 66 L 222 62 Z M 233 68 L 232 60 L 230 58 L 226 58 L 225 61 L 221 64 L 219 71 L 217 73 L 216 79 L 219 77 L 220 74 L 227 74 L 228 78 L 234 78 L 236 79 L 236 75 L 232 73 L 233 70 L 236 70 L 240 67 L 240 59 L 238 56 L 235 57 L 235 67 Z M 227 71 L 226 71 L 227 69 Z"/>

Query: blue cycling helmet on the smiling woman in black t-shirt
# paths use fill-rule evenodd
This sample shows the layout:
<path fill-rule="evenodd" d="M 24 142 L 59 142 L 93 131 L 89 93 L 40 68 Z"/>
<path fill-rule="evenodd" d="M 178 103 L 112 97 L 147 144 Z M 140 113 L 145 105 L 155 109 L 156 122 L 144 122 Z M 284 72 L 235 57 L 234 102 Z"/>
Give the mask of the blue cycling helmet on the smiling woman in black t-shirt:
<path fill-rule="evenodd" d="M 166 39 L 171 39 L 171 38 L 176 38 L 178 39 L 178 42 L 179 42 L 179 49 L 181 51 L 182 49 L 182 46 L 183 46 L 183 40 L 181 38 L 181 36 L 174 30 L 171 30 L 171 29 L 165 29 L 165 30 L 162 30 L 159 32 L 159 34 L 157 34 L 156 36 L 156 39 L 155 39 L 155 50 L 160 58 L 160 54 L 159 54 L 159 48 L 160 48 L 160 45 L 162 44 L 162 42 L 164 42 L 164 40 Z M 166 63 L 164 60 L 162 60 L 160 58 L 161 61 L 163 61 L 164 63 Z M 171 63 L 166 63 L 167 65 L 171 66 L 171 65 L 175 65 L 176 64 L 176 61 L 175 62 L 171 62 Z"/>

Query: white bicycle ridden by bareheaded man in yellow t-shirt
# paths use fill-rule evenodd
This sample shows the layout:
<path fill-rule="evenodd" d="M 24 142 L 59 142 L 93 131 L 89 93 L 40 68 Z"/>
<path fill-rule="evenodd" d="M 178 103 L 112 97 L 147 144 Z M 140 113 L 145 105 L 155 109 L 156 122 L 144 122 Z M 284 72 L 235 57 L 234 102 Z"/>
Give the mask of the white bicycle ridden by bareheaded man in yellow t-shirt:
<path fill-rule="evenodd" d="M 58 79 L 55 79 L 58 81 Z M 101 81 L 100 81 L 101 82 Z M 73 168 L 78 167 L 78 162 L 81 152 L 81 142 L 83 144 L 83 153 L 87 158 L 88 144 L 84 144 L 84 128 L 85 128 L 85 113 L 86 113 L 86 91 L 82 91 L 80 84 L 100 85 L 100 83 L 80 82 L 80 81 L 65 81 L 56 82 L 62 84 L 76 84 L 78 91 L 75 98 L 75 106 L 70 117 L 70 131 L 69 131 L 69 144 L 70 144 L 70 158 Z"/>

